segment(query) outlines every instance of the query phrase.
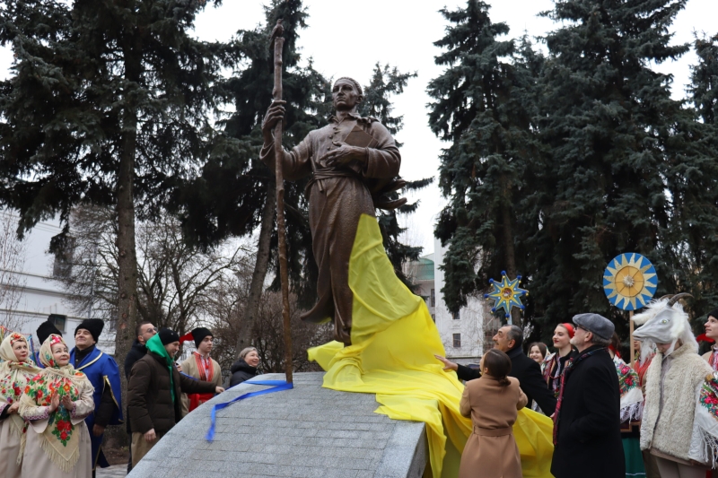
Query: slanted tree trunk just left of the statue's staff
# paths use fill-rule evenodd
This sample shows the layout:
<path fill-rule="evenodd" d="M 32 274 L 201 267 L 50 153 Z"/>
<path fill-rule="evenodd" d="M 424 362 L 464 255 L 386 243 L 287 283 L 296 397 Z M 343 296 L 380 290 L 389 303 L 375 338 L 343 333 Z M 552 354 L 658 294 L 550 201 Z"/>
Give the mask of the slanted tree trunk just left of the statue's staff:
<path fill-rule="evenodd" d="M 262 209 L 262 223 L 259 228 L 259 240 L 257 245 L 257 262 L 254 265 L 252 281 L 250 283 L 250 295 L 244 313 L 240 317 L 240 331 L 237 339 L 237 352 L 251 344 L 251 334 L 254 328 L 254 320 L 259 309 L 259 300 L 264 291 L 264 280 L 267 277 L 269 267 L 269 241 L 272 239 L 272 226 L 275 219 L 276 205 L 276 184 L 270 180 L 267 183 L 267 200 Z"/>

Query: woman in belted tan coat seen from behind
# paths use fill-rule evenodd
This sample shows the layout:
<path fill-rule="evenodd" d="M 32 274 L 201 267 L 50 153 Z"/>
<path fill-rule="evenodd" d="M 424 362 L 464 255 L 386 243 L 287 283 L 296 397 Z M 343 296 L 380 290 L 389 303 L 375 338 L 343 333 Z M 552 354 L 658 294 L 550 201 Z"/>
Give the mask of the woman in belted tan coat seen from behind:
<path fill-rule="evenodd" d="M 460 413 L 471 418 L 474 432 L 461 454 L 459 478 L 521 478 L 521 455 L 512 426 L 528 403 L 519 380 L 508 377 L 512 361 L 498 349 L 484 354 L 481 377 L 467 382 Z"/>

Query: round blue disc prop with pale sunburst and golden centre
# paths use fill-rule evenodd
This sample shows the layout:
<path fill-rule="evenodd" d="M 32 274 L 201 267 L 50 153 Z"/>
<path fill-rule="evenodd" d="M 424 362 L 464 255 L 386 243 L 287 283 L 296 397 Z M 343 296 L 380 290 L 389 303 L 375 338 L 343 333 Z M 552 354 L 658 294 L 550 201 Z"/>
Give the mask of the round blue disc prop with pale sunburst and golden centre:
<path fill-rule="evenodd" d="M 651 300 L 658 287 L 658 277 L 651 261 L 635 253 L 614 258 L 603 273 L 603 291 L 618 309 L 641 309 Z"/>

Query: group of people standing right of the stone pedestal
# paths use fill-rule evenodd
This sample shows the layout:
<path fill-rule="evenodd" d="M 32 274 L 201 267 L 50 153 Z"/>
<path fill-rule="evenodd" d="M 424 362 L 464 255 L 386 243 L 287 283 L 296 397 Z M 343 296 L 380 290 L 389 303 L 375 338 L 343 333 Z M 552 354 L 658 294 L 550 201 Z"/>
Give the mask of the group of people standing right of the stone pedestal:
<path fill-rule="evenodd" d="M 466 380 L 460 412 L 474 431 L 460 478 L 521 478 L 512 438 L 517 411 L 531 406 L 554 422 L 556 478 L 710 478 L 718 459 L 718 347 L 703 357 L 678 294 L 633 317 L 632 365 L 621 358 L 613 323 L 580 314 L 559 324 L 554 353 L 503 326 L 478 369 L 436 356 Z M 718 340 L 718 309 L 705 335 Z"/>

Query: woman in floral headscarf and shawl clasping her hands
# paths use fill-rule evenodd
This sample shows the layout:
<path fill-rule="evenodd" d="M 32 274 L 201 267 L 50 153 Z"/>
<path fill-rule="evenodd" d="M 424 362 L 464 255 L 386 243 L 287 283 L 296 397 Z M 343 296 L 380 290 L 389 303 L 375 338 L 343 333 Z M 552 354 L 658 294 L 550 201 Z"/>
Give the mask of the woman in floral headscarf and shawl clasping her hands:
<path fill-rule="evenodd" d="M 84 417 L 92 413 L 92 384 L 70 365 L 60 335 L 50 335 L 39 349 L 45 369 L 31 378 L 20 401 L 30 422 L 22 476 L 89 478 L 92 476 L 90 433 Z"/>

